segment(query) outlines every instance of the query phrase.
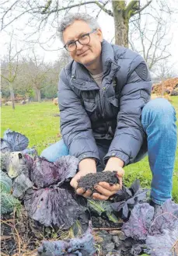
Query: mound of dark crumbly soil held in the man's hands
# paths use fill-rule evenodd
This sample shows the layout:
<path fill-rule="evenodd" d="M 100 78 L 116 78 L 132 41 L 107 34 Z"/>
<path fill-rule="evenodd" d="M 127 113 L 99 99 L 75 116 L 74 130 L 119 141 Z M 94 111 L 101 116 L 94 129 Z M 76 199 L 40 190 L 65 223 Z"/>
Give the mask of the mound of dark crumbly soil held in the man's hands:
<path fill-rule="evenodd" d="M 103 171 L 96 174 L 86 174 L 86 176 L 78 181 L 78 188 L 84 188 L 85 190 L 90 189 L 93 193 L 96 191 L 94 189 L 95 185 L 102 181 L 105 181 L 110 185 L 119 184 L 117 171 Z"/>

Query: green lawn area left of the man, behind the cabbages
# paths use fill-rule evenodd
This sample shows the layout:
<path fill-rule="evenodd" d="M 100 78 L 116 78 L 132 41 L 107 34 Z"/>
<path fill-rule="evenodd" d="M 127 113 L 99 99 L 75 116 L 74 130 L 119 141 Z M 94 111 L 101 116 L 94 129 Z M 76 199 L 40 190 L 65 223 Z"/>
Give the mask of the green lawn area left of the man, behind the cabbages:
<path fill-rule="evenodd" d="M 59 114 L 59 110 L 52 102 L 16 105 L 16 110 L 3 106 L 1 135 L 7 128 L 21 132 L 30 140 L 29 147 L 36 146 L 40 154 L 60 139 L 59 117 L 54 117 L 54 114 Z"/>

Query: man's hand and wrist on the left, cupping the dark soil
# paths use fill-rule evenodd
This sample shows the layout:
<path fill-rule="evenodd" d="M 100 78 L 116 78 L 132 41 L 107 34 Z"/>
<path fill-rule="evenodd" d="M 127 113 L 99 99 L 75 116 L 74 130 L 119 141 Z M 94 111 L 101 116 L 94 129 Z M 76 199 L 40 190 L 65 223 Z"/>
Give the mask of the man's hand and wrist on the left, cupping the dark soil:
<path fill-rule="evenodd" d="M 79 172 L 75 174 L 72 178 L 71 186 L 75 188 L 76 193 L 89 198 L 92 195 L 92 191 L 85 191 L 84 188 L 78 188 L 78 181 L 81 177 L 86 176 L 86 174 L 96 174 L 96 160 L 91 158 L 86 158 L 79 163 Z"/>

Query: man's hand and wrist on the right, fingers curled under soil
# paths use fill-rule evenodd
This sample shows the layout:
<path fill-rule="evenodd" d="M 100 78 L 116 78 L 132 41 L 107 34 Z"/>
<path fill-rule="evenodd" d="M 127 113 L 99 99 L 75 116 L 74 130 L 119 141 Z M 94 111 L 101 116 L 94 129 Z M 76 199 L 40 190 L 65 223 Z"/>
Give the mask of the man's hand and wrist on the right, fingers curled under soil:
<path fill-rule="evenodd" d="M 93 193 L 93 199 L 107 200 L 110 196 L 116 194 L 118 190 L 122 189 L 122 178 L 124 176 L 123 166 L 124 162 L 122 160 L 117 157 L 110 157 L 110 160 L 108 160 L 106 168 L 103 171 L 117 171 L 119 184 L 110 185 L 107 182 L 99 182 L 99 184 L 95 186 L 96 191 L 99 191 L 99 193 Z"/>

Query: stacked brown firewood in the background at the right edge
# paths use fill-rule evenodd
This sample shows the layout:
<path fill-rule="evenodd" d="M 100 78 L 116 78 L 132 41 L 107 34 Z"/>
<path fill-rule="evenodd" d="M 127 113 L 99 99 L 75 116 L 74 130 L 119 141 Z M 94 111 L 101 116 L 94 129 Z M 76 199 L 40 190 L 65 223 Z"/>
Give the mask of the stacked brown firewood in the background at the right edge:
<path fill-rule="evenodd" d="M 172 94 L 173 90 L 178 90 L 178 78 L 167 79 L 165 81 L 153 84 L 152 93 L 157 96 Z"/>

